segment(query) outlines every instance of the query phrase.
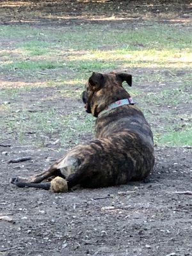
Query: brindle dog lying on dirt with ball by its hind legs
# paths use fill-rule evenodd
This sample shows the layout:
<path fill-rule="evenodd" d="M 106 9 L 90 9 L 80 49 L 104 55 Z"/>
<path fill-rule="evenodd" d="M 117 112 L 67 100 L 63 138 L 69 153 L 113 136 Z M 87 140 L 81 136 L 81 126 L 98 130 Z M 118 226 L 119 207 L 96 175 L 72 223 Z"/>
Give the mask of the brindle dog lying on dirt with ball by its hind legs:
<path fill-rule="evenodd" d="M 77 184 L 99 188 L 145 179 L 154 167 L 150 125 L 134 104 L 106 111 L 113 102 L 131 98 L 122 86 L 124 81 L 131 86 L 132 76 L 93 72 L 83 92 L 83 102 L 86 112 L 97 117 L 95 140 L 72 148 L 45 172 L 29 178 L 12 178 L 11 182 L 19 187 L 61 192 Z M 48 178 L 52 181 L 42 182 Z"/>

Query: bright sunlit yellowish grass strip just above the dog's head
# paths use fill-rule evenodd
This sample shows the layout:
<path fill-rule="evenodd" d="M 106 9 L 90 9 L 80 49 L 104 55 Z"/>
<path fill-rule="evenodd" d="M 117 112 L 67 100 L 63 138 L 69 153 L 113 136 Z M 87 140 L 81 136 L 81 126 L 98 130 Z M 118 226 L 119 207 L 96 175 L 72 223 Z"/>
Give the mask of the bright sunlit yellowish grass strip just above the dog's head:
<path fill-rule="evenodd" d="M 168 65 L 175 67 L 175 63 L 181 67 L 188 67 L 192 54 L 189 49 L 182 52 L 182 50 L 175 49 L 131 50 L 129 48 L 122 48 L 111 51 L 88 51 L 85 54 L 74 54 L 68 58 L 76 61 L 118 61 L 121 65 L 129 65 L 129 67 L 166 67 Z"/>

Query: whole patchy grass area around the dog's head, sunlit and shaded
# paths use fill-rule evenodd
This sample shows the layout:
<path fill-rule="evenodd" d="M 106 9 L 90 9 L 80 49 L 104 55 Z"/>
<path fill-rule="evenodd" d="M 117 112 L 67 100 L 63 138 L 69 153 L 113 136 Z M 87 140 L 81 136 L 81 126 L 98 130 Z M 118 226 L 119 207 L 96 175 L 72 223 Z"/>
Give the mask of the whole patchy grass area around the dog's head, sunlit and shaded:
<path fill-rule="evenodd" d="M 57 138 L 64 146 L 78 143 L 79 136 L 93 131 L 90 115 L 74 109 L 63 116 L 57 106 L 29 113 L 23 108 L 32 103 L 22 104 L 22 97 L 33 94 L 34 88 L 44 92 L 48 87 L 59 92 L 54 89 L 45 102 L 61 97 L 77 100 L 93 71 L 112 70 L 134 74 L 132 88 L 125 83 L 124 87 L 152 124 L 158 145 L 191 143 L 190 111 L 186 107 L 191 100 L 191 35 L 187 29 L 152 22 L 122 29 L 97 24 L 54 29 L 1 26 L 0 38 L 8 45 L 1 54 L 1 83 L 5 85 L 0 90 L 0 102 L 11 101 L 0 106 L 4 116 L 0 126 L 20 143 L 28 141 L 29 129 L 35 131 L 29 140 L 41 147 Z M 20 81 L 23 85 L 16 88 Z M 40 97 L 33 104 L 39 107 Z M 18 113 L 17 105 L 22 106 Z"/>

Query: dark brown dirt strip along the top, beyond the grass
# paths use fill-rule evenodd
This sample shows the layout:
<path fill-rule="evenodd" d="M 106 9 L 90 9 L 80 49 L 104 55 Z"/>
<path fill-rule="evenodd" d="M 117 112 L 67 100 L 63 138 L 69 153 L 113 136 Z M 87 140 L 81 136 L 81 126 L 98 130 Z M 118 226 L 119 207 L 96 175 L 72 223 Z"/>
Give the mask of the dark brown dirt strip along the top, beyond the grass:
<path fill-rule="evenodd" d="M 50 0 L 1 1 L 0 24 L 70 26 L 86 23 L 115 24 L 152 19 L 160 22 L 188 23 L 190 0 Z M 115 19 L 114 19 L 115 18 Z"/>

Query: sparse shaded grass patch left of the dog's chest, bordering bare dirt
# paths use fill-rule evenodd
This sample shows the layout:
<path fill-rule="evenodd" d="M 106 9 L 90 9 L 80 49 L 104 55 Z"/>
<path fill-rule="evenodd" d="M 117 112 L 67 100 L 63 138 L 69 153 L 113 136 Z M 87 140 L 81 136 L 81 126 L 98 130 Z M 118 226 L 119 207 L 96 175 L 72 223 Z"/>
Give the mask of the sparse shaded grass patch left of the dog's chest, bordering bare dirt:
<path fill-rule="evenodd" d="M 6 111 L 8 113 L 8 109 Z M 65 147 L 68 144 L 77 145 L 84 131 L 92 132 L 95 120 L 92 116 L 84 116 L 82 111 L 78 110 L 63 116 L 54 108 L 34 113 L 22 110 L 13 116 L 14 118 L 4 122 L 4 126 L 0 126 L 1 129 L 12 132 L 12 138 L 20 143 L 25 143 L 30 136 L 28 132 L 32 132 L 33 144 L 38 147 L 46 147 L 57 138 L 60 138 L 61 145 Z"/>

